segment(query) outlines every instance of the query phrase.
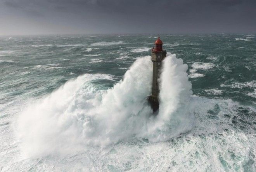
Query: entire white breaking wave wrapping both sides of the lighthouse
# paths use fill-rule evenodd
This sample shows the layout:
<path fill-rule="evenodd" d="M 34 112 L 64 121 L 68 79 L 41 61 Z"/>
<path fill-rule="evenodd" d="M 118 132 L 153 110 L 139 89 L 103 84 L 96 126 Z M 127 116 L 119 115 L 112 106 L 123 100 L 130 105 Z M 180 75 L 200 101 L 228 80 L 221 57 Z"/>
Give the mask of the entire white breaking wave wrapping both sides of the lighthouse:
<path fill-rule="evenodd" d="M 168 54 L 160 78 L 157 119 L 149 118 L 152 110 L 146 99 L 152 84 L 150 56 L 138 58 L 112 89 L 99 90 L 93 84 L 99 79 L 114 80 L 112 76 L 79 76 L 19 115 L 17 135 L 22 150 L 32 157 L 66 154 L 134 136 L 157 142 L 186 132 L 193 124 L 191 109 L 182 108 L 189 106 L 192 93 L 186 70 L 181 59 Z"/>

